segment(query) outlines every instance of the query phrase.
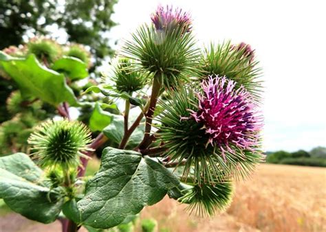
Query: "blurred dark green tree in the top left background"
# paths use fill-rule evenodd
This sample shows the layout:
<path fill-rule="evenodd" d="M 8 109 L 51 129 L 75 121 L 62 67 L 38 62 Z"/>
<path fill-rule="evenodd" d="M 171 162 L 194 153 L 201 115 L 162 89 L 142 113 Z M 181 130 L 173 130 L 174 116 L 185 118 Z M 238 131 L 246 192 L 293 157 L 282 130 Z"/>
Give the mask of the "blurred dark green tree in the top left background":
<path fill-rule="evenodd" d="M 66 0 L 63 5 L 50 0 L 0 0 L 0 49 L 19 45 L 27 32 L 50 35 L 49 25 L 67 32 L 70 42 L 89 45 L 98 65 L 111 56 L 105 33 L 116 25 L 111 20 L 118 0 Z"/>

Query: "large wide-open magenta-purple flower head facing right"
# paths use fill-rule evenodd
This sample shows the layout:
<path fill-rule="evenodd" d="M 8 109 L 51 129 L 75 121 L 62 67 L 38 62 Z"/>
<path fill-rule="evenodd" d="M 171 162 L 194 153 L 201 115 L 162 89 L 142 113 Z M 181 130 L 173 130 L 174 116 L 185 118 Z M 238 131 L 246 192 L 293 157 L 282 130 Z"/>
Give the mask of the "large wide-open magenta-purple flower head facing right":
<path fill-rule="evenodd" d="M 236 82 L 226 77 L 209 76 L 202 82 L 204 93 L 198 94 L 199 110 L 191 111 L 197 122 L 204 123 L 208 143 L 225 152 L 235 154 L 232 147 L 240 150 L 254 150 L 259 144 L 259 130 L 263 118 L 243 86 L 235 89 Z"/>

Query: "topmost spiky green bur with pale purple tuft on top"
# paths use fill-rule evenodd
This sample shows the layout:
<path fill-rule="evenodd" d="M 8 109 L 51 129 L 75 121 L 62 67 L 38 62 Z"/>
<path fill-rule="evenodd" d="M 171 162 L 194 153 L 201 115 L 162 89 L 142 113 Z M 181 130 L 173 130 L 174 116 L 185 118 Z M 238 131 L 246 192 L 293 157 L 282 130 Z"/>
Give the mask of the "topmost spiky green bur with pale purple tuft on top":
<path fill-rule="evenodd" d="M 123 56 L 135 60 L 133 69 L 157 77 L 166 88 L 180 86 L 197 71 L 199 50 L 189 31 L 191 21 L 182 23 L 182 15 L 181 10 L 159 10 L 152 16 L 154 25 L 140 27 L 122 48 Z"/>

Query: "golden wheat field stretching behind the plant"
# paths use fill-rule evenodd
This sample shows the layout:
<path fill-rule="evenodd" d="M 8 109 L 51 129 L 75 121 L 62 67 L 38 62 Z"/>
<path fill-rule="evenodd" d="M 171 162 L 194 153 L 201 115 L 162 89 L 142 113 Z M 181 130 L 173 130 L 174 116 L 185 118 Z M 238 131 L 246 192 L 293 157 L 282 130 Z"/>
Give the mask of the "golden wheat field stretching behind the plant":
<path fill-rule="evenodd" d="M 198 218 L 188 216 L 184 208 L 164 198 L 157 205 L 146 207 L 141 218 L 156 219 L 160 232 L 326 231 L 326 168 L 263 164 L 250 180 L 236 184 L 232 205 L 225 213 Z M 58 222 L 49 227 L 9 214 L 0 218 L 0 231 L 61 228 Z"/>

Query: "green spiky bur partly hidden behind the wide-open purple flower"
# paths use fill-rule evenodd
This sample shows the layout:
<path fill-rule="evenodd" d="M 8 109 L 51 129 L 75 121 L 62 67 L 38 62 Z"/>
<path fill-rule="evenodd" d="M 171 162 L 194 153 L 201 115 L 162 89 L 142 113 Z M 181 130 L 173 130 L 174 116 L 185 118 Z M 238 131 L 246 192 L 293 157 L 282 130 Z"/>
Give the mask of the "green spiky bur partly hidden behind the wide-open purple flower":
<path fill-rule="evenodd" d="M 230 41 L 217 46 L 211 43 L 202 54 L 200 80 L 210 75 L 226 76 L 236 82 L 237 89 L 243 86 L 252 94 L 254 101 L 259 102 L 262 86 L 258 64 L 250 45 L 232 45 Z"/>

